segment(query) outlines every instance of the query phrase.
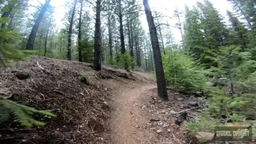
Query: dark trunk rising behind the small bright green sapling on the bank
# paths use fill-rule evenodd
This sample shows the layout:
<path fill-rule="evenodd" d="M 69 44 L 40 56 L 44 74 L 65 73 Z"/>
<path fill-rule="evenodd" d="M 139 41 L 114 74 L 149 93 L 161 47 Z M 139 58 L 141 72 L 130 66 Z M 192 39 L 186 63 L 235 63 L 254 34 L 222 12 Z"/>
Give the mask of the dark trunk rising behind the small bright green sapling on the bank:
<path fill-rule="evenodd" d="M 125 44 L 124 44 L 124 28 L 123 28 L 123 14 L 122 14 L 122 5 L 121 0 L 119 0 L 119 23 L 120 23 L 120 41 L 121 41 L 121 54 L 125 53 Z M 128 70 L 128 65 L 124 64 L 124 69 Z"/>

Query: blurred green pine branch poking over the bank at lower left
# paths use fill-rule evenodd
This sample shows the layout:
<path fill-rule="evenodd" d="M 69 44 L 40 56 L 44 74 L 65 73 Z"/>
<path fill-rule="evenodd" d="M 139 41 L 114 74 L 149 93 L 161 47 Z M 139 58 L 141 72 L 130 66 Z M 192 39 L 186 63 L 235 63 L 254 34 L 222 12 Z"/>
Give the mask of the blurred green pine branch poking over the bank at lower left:
<path fill-rule="evenodd" d="M 50 110 L 36 110 L 35 108 L 18 104 L 12 100 L 2 99 L 2 96 L 0 95 L 0 122 L 5 122 L 9 120 L 10 116 L 14 116 L 23 126 L 43 126 L 45 124 L 44 122 L 32 118 L 34 114 L 42 114 L 52 117 L 56 116 L 55 114 L 52 114 Z"/>

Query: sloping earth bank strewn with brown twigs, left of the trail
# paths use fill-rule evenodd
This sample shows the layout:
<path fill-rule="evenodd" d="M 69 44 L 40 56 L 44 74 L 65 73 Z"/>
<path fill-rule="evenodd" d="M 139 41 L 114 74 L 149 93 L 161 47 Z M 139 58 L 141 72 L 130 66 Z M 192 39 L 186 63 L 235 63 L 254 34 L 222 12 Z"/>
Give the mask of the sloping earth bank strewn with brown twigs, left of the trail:
<path fill-rule="evenodd" d="M 40 65 L 39 65 L 40 64 Z M 103 66 L 96 72 L 92 64 L 31 58 L 0 70 L 0 91 L 12 93 L 10 99 L 38 110 L 52 110 L 56 118 L 36 115 L 45 126 L 26 128 L 9 120 L 0 123 L 1 144 L 84 144 L 102 143 L 108 132 L 111 94 L 109 82 L 149 80 L 143 74 L 127 73 Z"/>

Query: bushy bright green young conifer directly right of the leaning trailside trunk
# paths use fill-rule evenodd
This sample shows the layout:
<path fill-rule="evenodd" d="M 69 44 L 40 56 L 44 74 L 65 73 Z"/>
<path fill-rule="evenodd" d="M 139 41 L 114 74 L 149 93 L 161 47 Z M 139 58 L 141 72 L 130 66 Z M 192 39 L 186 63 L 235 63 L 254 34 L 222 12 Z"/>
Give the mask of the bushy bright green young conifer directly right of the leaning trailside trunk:
<path fill-rule="evenodd" d="M 207 78 L 202 67 L 180 51 L 166 50 L 163 56 L 166 84 L 180 91 L 201 91 Z"/>

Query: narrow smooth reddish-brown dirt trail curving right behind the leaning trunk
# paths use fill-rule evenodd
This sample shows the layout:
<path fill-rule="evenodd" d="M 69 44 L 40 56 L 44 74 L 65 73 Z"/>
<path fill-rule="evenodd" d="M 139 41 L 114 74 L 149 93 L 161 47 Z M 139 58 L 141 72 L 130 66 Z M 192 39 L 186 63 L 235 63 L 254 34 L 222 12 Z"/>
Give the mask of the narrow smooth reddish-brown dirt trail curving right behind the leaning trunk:
<path fill-rule="evenodd" d="M 112 117 L 114 144 L 146 143 L 143 128 L 147 120 L 141 115 L 142 92 L 155 87 L 154 84 L 140 84 L 119 90 L 119 94 L 116 95 L 116 112 Z"/>

